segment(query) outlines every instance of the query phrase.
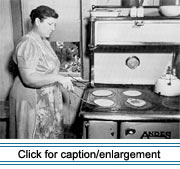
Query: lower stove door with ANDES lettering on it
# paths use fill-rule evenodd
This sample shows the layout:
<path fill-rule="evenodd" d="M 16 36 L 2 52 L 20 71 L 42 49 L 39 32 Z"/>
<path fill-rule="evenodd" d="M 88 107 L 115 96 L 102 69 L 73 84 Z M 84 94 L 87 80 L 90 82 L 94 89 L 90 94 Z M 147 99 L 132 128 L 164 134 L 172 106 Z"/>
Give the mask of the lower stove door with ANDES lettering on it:
<path fill-rule="evenodd" d="M 178 122 L 122 122 L 121 139 L 179 139 Z"/>

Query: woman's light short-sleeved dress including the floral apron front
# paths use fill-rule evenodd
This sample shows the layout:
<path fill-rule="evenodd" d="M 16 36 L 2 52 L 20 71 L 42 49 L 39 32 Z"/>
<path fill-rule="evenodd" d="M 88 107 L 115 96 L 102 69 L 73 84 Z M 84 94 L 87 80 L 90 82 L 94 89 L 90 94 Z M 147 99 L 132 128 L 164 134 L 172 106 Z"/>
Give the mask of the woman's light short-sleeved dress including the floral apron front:
<path fill-rule="evenodd" d="M 17 45 L 14 62 L 19 68 L 57 74 L 60 62 L 46 39 L 30 32 Z M 16 77 L 10 91 L 10 138 L 63 138 L 61 85 L 30 88 Z"/>

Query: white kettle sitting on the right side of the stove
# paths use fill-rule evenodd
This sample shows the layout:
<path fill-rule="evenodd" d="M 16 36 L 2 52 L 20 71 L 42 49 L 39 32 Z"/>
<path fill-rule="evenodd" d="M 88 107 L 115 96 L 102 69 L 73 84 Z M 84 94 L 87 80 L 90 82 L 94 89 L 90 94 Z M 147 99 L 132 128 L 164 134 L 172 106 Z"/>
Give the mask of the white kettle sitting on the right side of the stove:
<path fill-rule="evenodd" d="M 175 69 L 173 74 L 170 73 L 170 68 L 165 75 L 162 75 L 155 83 L 155 93 L 163 96 L 179 96 L 180 95 L 180 79 L 175 75 Z"/>

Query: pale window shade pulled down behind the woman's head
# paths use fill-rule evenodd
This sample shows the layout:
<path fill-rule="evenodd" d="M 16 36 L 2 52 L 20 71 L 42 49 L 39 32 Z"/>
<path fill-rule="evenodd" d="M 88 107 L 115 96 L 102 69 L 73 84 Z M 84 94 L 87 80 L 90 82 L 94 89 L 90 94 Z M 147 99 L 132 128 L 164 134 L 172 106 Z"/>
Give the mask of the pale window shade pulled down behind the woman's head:
<path fill-rule="evenodd" d="M 47 5 L 56 10 L 59 18 L 51 41 L 80 41 L 80 0 L 21 0 L 24 33 L 30 27 L 29 14 L 39 5 Z"/>

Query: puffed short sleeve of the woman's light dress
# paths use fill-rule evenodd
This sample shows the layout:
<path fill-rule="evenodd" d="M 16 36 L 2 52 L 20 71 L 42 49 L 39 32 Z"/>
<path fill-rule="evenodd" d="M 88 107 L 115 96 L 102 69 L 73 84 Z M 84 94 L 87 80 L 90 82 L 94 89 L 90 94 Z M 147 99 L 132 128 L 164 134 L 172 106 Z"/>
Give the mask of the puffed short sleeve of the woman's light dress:
<path fill-rule="evenodd" d="M 18 67 L 36 69 L 39 61 L 39 50 L 36 42 L 31 39 L 22 40 L 16 48 L 15 57 Z"/>

